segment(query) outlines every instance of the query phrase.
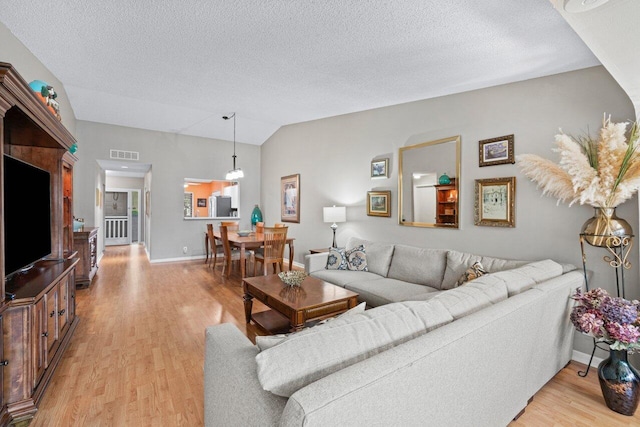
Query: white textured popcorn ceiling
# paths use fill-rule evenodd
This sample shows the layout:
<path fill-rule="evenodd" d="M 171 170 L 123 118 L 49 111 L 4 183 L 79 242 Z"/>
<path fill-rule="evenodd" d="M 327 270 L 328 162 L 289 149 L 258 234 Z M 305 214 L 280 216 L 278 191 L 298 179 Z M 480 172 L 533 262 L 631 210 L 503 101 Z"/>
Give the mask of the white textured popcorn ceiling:
<path fill-rule="evenodd" d="M 549 0 L 0 0 L 79 120 L 280 126 L 599 64 Z M 1 49 L 0 49 L 1 60 Z"/>

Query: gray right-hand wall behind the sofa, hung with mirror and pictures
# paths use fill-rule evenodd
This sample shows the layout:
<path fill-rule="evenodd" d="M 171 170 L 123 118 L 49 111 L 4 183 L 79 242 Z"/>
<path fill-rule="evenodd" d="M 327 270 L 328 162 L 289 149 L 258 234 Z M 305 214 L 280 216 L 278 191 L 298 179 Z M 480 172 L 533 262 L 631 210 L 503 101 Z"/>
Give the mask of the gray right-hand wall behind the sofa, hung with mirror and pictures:
<path fill-rule="evenodd" d="M 597 130 L 603 113 L 614 121 L 635 117 L 629 98 L 603 67 L 384 107 L 355 114 L 284 126 L 262 146 L 262 205 L 265 221 L 280 218 L 280 177 L 300 173 L 300 224 L 290 224 L 296 238 L 297 262 L 308 249 L 331 243 L 330 224 L 322 207 L 347 206 L 347 222 L 339 224 L 338 245 L 348 236 L 451 248 L 506 258 L 552 258 L 581 266 L 578 235 L 593 215 L 588 206 L 557 205 L 542 197 L 516 165 L 478 166 L 478 141 L 515 135 L 515 153 L 536 153 L 557 160 L 552 152 L 560 127 L 579 135 Z M 460 229 L 398 225 L 398 149 L 419 142 L 461 135 Z M 286 153 L 286 157 L 283 155 Z M 370 162 L 390 153 L 389 179 L 370 178 Z M 384 157 L 384 156 L 382 156 Z M 474 180 L 516 177 L 516 227 L 474 225 Z M 392 191 L 392 217 L 366 215 L 368 190 Z M 618 215 L 638 228 L 637 200 L 618 208 Z M 599 254 L 604 255 L 604 254 Z M 637 245 L 627 271 L 627 296 L 638 298 Z M 601 256 L 589 258 L 591 282 L 612 291 L 613 272 Z M 591 340 L 576 338 L 576 348 L 591 351 Z"/>

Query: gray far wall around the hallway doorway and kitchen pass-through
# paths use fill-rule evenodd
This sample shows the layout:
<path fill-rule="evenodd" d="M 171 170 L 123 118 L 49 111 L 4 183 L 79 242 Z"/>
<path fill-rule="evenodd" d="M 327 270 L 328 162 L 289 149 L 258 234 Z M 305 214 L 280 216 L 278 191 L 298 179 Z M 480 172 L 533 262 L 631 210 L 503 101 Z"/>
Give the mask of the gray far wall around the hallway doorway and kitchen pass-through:
<path fill-rule="evenodd" d="M 183 219 L 184 178 L 224 179 L 232 166 L 233 143 L 122 126 L 78 121 L 80 159 L 74 169 L 76 216 L 94 217 L 97 160 L 109 159 L 110 149 L 137 151 L 150 163 L 151 216 L 145 217 L 145 242 L 154 261 L 204 255 L 206 222 Z M 240 225 L 249 228 L 251 210 L 260 197 L 260 147 L 236 143 L 237 164 L 245 173 L 240 181 Z M 87 179 L 94 177 L 94 179 Z M 97 219 L 99 220 L 99 219 Z M 88 224 L 95 226 L 97 224 Z M 99 225 L 98 225 L 99 226 Z M 186 254 L 182 248 L 188 247 Z"/>

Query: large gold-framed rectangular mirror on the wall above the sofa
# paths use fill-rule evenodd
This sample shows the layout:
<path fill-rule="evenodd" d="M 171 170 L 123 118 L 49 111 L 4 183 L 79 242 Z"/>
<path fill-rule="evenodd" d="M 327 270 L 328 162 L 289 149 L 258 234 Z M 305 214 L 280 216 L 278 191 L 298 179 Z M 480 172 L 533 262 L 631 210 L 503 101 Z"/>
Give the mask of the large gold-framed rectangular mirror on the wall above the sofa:
<path fill-rule="evenodd" d="M 401 147 L 398 223 L 458 228 L 460 136 Z"/>

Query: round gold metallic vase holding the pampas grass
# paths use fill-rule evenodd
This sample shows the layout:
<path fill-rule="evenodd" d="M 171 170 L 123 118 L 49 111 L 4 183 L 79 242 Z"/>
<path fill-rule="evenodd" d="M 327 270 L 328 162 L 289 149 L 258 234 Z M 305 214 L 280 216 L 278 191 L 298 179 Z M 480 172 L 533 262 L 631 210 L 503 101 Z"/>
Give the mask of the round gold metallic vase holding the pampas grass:
<path fill-rule="evenodd" d="M 594 208 L 595 214 L 582 226 L 581 234 L 591 246 L 618 247 L 619 239 L 612 237 L 631 236 L 633 229 L 629 223 L 618 218 L 616 208 Z"/>

